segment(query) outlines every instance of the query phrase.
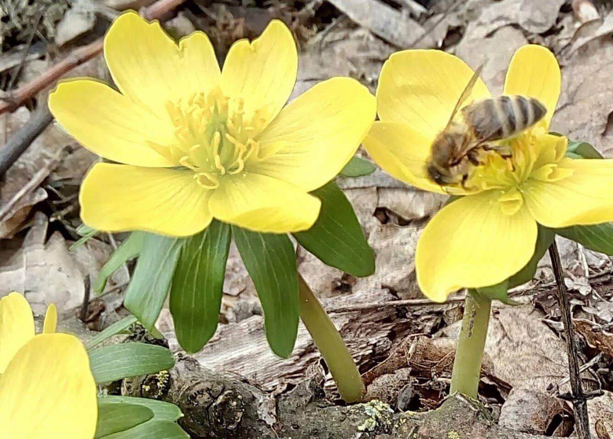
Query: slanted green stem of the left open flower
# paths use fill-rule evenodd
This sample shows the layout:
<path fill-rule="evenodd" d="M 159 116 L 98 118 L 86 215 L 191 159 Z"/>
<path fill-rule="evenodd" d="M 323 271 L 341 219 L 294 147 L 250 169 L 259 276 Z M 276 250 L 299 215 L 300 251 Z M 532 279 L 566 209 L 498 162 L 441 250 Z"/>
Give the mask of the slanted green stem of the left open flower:
<path fill-rule="evenodd" d="M 330 368 L 341 397 L 346 402 L 359 401 L 366 393 L 366 389 L 356 363 L 351 358 L 351 354 L 341 339 L 341 334 L 338 333 L 326 310 L 300 274 L 298 283 L 302 323 L 307 327 L 321 356 Z"/>

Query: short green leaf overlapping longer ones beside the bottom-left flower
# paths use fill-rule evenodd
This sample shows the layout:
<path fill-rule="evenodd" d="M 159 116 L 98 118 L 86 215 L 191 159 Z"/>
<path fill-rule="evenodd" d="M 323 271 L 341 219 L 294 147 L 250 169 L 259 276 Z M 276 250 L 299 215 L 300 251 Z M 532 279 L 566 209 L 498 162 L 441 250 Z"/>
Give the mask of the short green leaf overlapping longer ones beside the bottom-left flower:
<path fill-rule="evenodd" d="M 102 438 L 113 433 L 123 432 L 153 418 L 153 411 L 144 405 L 98 403 L 98 424 L 95 438 Z"/>

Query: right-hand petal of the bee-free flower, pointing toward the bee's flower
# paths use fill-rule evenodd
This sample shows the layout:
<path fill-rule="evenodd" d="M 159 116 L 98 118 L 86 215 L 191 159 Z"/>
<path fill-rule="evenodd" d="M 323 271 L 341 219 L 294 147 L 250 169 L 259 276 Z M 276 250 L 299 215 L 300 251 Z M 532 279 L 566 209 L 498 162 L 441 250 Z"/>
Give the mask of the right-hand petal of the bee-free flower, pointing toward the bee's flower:
<path fill-rule="evenodd" d="M 356 153 L 375 120 L 375 97 L 351 78 L 317 84 L 284 108 L 262 132 L 262 148 L 283 144 L 248 171 L 310 191 L 334 178 Z"/>

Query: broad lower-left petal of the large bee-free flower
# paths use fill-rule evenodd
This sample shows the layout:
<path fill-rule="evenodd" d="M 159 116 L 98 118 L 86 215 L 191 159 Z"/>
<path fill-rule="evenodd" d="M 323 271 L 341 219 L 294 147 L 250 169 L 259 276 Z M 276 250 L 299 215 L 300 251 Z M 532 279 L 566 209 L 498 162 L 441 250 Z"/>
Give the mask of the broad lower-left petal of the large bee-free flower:
<path fill-rule="evenodd" d="M 211 222 L 210 191 L 191 171 L 97 163 L 81 186 L 81 217 L 105 231 L 190 236 Z"/>

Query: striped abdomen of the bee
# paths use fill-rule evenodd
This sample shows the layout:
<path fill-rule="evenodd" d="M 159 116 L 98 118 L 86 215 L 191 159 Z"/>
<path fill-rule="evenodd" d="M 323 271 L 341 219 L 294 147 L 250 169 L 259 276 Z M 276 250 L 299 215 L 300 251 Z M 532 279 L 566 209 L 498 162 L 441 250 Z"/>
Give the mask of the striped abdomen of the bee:
<path fill-rule="evenodd" d="M 478 141 L 513 137 L 543 119 L 547 108 L 528 96 L 498 96 L 479 100 L 462 109 L 466 124 Z"/>

